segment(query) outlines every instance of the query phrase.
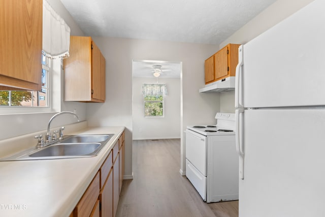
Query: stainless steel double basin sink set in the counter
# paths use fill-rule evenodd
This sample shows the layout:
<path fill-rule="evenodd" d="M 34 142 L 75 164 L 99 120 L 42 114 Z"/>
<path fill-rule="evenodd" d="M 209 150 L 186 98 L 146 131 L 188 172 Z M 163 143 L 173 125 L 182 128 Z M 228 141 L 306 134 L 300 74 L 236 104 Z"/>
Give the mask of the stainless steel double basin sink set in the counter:
<path fill-rule="evenodd" d="M 94 157 L 114 134 L 72 135 L 48 146 L 29 148 L 0 161 L 48 160 Z"/>

